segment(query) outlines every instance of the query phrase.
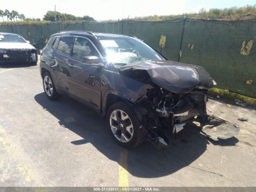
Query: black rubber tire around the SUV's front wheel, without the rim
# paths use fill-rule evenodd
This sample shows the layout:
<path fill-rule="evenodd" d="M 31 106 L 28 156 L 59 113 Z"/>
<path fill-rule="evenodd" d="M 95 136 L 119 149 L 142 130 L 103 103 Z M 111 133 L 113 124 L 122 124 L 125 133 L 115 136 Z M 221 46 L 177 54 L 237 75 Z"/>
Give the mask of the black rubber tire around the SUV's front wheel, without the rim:
<path fill-rule="evenodd" d="M 118 140 L 116 138 L 116 136 L 114 135 L 114 133 L 112 132 L 112 129 L 110 128 L 110 116 L 111 116 L 112 112 L 114 112 L 115 110 L 122 110 L 123 112 L 125 112 L 128 115 L 128 117 L 130 118 L 130 121 L 132 122 L 133 134 L 132 134 L 130 141 L 128 141 L 128 142 L 121 142 L 120 140 Z M 124 148 L 133 148 L 135 146 L 138 146 L 144 140 L 144 132 L 143 132 L 142 128 L 140 128 L 141 123 L 138 120 L 136 113 L 125 102 L 118 102 L 118 103 L 115 103 L 112 106 L 110 106 L 110 108 L 108 109 L 108 112 L 107 112 L 107 116 L 106 116 L 106 123 L 108 126 L 108 130 L 109 130 L 112 138 L 114 139 L 114 141 L 118 145 L 120 145 Z"/>

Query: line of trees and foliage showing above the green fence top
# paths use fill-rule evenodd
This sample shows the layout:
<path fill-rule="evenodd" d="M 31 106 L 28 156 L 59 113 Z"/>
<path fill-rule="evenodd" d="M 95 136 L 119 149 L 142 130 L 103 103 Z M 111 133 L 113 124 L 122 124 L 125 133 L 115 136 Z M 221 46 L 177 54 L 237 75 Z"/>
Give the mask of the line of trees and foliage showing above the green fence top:
<path fill-rule="evenodd" d="M 179 15 L 152 15 L 144 17 L 134 17 L 130 20 L 134 21 L 168 21 L 176 18 L 183 18 L 184 16 L 188 18 L 196 19 L 207 19 L 207 20 L 252 20 L 256 19 L 256 4 L 254 6 L 244 6 L 244 7 L 232 7 L 225 9 L 212 8 L 210 10 L 205 10 L 202 8 L 199 12 L 184 13 Z M 26 18 L 24 14 L 19 14 L 17 11 L 12 10 L 0 10 L 0 17 L 2 17 L 3 22 L 1 24 L 27 24 L 27 23 L 49 23 L 55 21 L 55 12 L 48 11 L 41 21 L 40 18 Z M 18 19 L 20 21 L 18 21 Z M 7 20 L 7 22 L 6 22 Z M 126 19 L 124 19 L 126 20 Z M 10 21 L 10 22 L 9 22 Z M 90 16 L 74 16 L 72 14 L 56 12 L 56 21 L 57 22 L 97 22 L 94 18 Z M 24 23 L 22 23 L 24 22 Z M 102 22 L 117 22 L 117 20 L 107 20 Z"/>

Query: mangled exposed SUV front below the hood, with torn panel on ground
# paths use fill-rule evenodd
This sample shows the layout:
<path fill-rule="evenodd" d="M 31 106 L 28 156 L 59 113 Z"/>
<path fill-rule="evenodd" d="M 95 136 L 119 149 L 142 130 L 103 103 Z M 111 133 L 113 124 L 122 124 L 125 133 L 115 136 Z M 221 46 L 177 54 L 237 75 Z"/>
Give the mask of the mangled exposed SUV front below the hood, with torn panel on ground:
<path fill-rule="evenodd" d="M 216 125 L 216 122 L 213 125 L 209 125 L 209 122 L 212 120 L 219 122 L 219 118 L 207 115 L 207 100 L 207 90 L 194 89 L 187 94 L 176 94 L 161 87 L 155 87 L 148 90 L 144 99 L 137 101 L 135 110 L 138 118 L 142 120 L 140 128 L 144 128 L 146 139 L 156 148 L 164 149 L 169 145 L 167 134 L 181 131 L 189 122 L 197 121 L 202 125 L 214 128 L 213 125 Z M 225 125 L 227 122 L 223 120 L 222 127 L 223 124 Z M 232 128 L 228 138 L 239 131 L 237 126 L 232 126 Z M 224 135 L 223 132 L 222 135 Z M 221 137 L 211 138 L 218 140 Z"/>

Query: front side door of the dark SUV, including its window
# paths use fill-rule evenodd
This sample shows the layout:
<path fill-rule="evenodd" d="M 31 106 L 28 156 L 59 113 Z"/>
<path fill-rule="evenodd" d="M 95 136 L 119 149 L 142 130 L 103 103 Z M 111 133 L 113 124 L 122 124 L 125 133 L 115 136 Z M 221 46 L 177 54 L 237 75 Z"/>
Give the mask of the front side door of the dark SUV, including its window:
<path fill-rule="evenodd" d="M 89 38 L 75 37 L 71 57 L 68 59 L 70 95 L 86 101 L 96 110 L 100 109 L 101 74 L 104 68 L 85 64 L 83 58 L 96 56 L 101 58 L 96 46 Z"/>

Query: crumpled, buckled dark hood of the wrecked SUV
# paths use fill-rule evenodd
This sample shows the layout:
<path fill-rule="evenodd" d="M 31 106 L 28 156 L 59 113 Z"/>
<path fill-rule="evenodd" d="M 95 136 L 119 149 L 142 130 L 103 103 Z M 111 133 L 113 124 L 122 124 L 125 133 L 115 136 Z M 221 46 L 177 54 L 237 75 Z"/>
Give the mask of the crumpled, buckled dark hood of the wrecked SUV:
<path fill-rule="evenodd" d="M 129 76 L 129 72 L 146 70 L 152 82 L 170 92 L 185 94 L 194 88 L 212 88 L 210 74 L 202 66 L 184 64 L 169 60 L 146 60 L 122 66 L 119 72 Z"/>

